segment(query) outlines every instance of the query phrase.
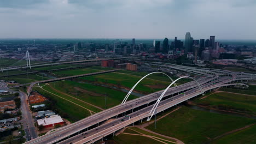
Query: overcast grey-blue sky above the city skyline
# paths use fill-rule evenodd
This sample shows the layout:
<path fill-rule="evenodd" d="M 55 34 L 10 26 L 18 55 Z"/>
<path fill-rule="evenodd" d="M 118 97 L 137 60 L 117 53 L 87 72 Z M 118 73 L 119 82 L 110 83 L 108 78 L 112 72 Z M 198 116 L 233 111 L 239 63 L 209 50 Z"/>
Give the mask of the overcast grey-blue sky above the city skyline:
<path fill-rule="evenodd" d="M 256 0 L 0 0 L 0 38 L 255 39 Z"/>

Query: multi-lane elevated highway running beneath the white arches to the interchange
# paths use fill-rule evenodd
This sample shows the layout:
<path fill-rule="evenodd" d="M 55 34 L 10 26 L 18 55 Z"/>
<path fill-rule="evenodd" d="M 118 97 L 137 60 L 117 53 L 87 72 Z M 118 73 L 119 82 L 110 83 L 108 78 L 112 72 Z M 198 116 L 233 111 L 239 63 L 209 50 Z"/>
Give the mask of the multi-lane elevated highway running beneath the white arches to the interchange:
<path fill-rule="evenodd" d="M 204 75 L 205 77 L 197 80 L 202 87 L 202 91 L 200 91 L 194 81 L 168 89 L 160 106 L 157 107 L 157 112 L 161 112 L 162 110 L 182 103 L 185 100 L 211 91 L 211 89 L 232 85 L 243 85 L 242 83 L 232 83 L 235 81 L 256 80 L 252 74 L 242 75 L 241 73 L 231 73 L 230 71 L 225 70 L 198 69 L 167 64 L 164 66 L 184 70 L 189 73 Z M 141 121 L 141 119 L 148 117 L 149 111 L 153 107 L 154 102 L 158 100 L 161 93 L 162 91 L 159 91 L 127 101 L 125 104 L 117 105 L 96 113 L 95 115 L 84 118 L 26 143 L 91 143 L 100 140 L 102 137 L 112 134 L 129 124 Z M 124 117 L 127 113 L 129 113 L 129 116 Z M 106 123 L 107 119 L 110 118 L 115 119 L 112 122 Z"/>

